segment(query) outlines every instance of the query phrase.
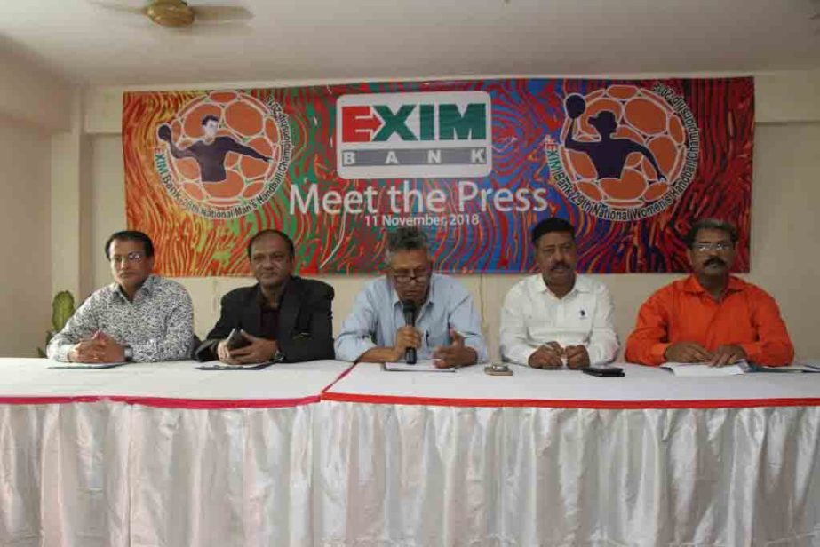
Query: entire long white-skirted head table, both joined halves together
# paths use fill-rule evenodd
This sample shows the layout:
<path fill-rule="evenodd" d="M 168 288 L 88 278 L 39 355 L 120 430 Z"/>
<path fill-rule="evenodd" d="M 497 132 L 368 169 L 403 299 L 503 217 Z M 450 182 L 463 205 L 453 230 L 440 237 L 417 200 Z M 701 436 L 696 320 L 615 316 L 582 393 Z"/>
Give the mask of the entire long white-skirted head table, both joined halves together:
<path fill-rule="evenodd" d="M 0 359 L 0 545 L 820 545 L 820 375 Z"/>

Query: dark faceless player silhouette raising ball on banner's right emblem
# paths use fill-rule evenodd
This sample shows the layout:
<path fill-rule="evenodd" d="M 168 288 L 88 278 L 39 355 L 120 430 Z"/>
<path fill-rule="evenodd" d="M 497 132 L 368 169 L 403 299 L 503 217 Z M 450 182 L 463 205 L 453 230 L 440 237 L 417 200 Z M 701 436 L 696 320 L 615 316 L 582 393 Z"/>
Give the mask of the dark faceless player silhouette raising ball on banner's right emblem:
<path fill-rule="evenodd" d="M 612 134 L 617 130 L 615 115 L 609 110 L 601 110 L 598 115 L 589 119 L 589 123 L 598 131 L 601 140 L 593 142 L 581 142 L 573 137 L 575 133 L 575 123 L 577 118 L 584 114 L 586 101 L 577 93 L 573 93 L 564 100 L 564 108 L 567 115 L 572 120 L 569 123 L 567 139 L 564 140 L 564 147 L 570 150 L 577 150 L 589 156 L 595 170 L 598 171 L 598 178 L 621 178 L 624 170 L 626 156 L 633 152 L 638 152 L 652 163 L 655 168 L 658 180 L 665 180 L 666 177 L 655 161 L 655 155 L 640 143 L 632 139 L 612 138 Z"/>

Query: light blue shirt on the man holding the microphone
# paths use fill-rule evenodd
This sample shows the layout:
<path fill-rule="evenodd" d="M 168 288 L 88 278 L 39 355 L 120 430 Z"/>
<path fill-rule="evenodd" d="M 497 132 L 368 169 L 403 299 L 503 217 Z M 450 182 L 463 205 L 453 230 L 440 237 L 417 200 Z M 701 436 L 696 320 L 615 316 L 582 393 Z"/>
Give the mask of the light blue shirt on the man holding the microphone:
<path fill-rule="evenodd" d="M 336 358 L 355 361 L 372 347 L 395 344 L 395 332 L 404 326 L 402 302 L 386 277 L 370 281 L 356 296 L 336 338 Z M 482 337 L 482 318 L 475 310 L 467 289 L 447 275 L 430 277 L 430 292 L 416 316 L 421 333 L 418 359 L 432 359 L 436 347 L 450 345 L 450 328 L 464 337 L 464 344 L 478 353 L 478 362 L 487 361 L 487 345 Z"/>

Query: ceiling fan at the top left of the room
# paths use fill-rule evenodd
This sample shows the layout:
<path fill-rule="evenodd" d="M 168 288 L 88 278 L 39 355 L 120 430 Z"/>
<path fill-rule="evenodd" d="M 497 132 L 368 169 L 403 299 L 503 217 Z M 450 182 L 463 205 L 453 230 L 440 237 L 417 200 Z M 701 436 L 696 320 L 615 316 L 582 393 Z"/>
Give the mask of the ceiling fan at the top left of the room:
<path fill-rule="evenodd" d="M 140 6 L 112 4 L 90 0 L 107 10 L 143 15 L 163 27 L 189 27 L 197 23 L 220 23 L 247 20 L 253 16 L 242 6 L 189 5 L 185 0 L 148 0 Z"/>

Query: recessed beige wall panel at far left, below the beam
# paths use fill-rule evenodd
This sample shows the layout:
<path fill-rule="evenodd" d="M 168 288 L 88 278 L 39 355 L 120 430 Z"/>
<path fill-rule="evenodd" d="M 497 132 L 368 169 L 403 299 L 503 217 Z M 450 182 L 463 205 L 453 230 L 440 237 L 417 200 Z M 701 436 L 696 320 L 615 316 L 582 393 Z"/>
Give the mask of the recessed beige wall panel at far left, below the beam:
<path fill-rule="evenodd" d="M 36 357 L 51 324 L 51 137 L 0 123 L 0 355 Z"/>

